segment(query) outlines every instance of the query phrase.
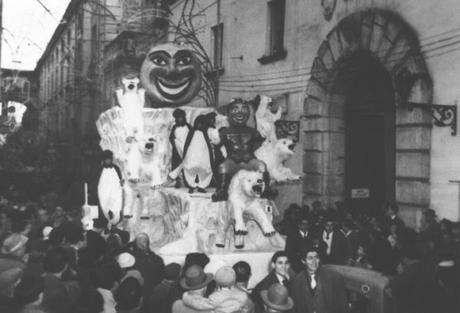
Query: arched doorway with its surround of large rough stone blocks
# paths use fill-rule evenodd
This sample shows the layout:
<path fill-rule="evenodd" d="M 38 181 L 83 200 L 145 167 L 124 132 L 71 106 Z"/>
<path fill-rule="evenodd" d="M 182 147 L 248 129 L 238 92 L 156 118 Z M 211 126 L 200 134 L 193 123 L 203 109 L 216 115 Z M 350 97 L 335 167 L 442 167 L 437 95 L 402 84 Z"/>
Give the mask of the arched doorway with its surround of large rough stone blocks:
<path fill-rule="evenodd" d="M 377 208 L 395 200 L 415 226 L 430 202 L 431 117 L 405 104 L 431 98 L 407 23 L 381 10 L 344 18 L 319 47 L 307 85 L 304 202 L 363 197 Z"/>

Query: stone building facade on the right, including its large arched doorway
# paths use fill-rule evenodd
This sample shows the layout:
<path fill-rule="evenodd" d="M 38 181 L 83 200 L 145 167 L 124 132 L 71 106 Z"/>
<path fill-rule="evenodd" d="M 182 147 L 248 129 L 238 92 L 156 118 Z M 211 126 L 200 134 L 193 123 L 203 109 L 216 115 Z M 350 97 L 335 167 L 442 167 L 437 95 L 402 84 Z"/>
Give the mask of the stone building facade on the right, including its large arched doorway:
<path fill-rule="evenodd" d="M 184 5 L 172 1 L 177 20 Z M 456 101 L 460 3 L 429 0 L 196 1 L 194 24 L 219 70 L 218 104 L 267 94 L 300 125 L 291 202 L 347 201 L 405 221 L 459 218 Z M 442 21 L 442 22 L 441 22 Z"/>

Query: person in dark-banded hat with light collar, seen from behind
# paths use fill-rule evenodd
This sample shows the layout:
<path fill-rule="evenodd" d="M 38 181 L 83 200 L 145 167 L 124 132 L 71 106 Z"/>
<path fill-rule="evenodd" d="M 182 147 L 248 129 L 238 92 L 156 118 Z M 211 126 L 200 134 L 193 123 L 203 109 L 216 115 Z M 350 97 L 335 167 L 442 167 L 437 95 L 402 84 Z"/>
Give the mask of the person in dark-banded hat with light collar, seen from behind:
<path fill-rule="evenodd" d="M 204 297 L 206 287 L 213 280 L 212 274 L 205 274 L 199 265 L 190 266 L 185 276 L 180 280 L 180 285 L 186 290 L 182 300 L 177 300 L 172 306 L 173 313 L 212 313 L 215 304 Z"/>

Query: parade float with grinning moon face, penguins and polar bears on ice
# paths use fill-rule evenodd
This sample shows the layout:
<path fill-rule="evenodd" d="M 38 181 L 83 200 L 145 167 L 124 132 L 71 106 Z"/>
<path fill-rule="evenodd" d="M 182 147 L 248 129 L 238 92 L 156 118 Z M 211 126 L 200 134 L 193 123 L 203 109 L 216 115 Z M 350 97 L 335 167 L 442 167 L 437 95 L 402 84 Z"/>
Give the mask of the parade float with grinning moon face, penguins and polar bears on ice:
<path fill-rule="evenodd" d="M 284 249 L 272 187 L 300 178 L 284 166 L 295 144 L 277 138 L 281 108 L 269 97 L 190 106 L 200 71 L 193 50 L 166 43 L 147 53 L 138 75 L 121 77 L 117 105 L 97 120 L 115 164 L 101 174 L 100 206 L 111 227 L 147 233 L 166 263 L 204 252 L 247 261 L 257 280 Z M 251 111 L 256 128 L 247 125 Z"/>

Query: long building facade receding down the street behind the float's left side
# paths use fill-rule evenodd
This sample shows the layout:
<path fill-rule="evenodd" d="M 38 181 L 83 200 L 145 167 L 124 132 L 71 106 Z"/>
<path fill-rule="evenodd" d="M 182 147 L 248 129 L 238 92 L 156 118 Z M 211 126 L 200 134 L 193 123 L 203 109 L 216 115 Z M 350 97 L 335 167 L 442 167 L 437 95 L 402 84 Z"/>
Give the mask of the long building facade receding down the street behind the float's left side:
<path fill-rule="evenodd" d="M 52 140 L 97 137 L 95 121 L 114 105 L 119 82 L 111 62 L 113 47 L 126 37 L 155 37 L 157 0 L 72 0 L 37 63 L 42 132 Z M 107 46 L 110 46 L 107 48 Z M 115 49 L 117 50 L 117 49 Z M 106 77 L 108 76 L 108 77 Z M 110 82 L 108 84 L 107 82 Z"/>

